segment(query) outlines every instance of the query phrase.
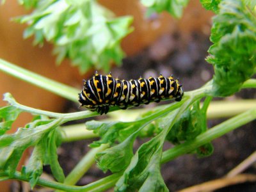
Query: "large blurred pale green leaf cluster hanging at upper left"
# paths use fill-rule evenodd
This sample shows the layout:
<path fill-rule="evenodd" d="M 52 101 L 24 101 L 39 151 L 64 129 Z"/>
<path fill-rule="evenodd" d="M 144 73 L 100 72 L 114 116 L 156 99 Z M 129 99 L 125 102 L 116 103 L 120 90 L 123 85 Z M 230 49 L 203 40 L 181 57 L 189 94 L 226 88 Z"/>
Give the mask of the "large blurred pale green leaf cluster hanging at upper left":
<path fill-rule="evenodd" d="M 29 24 L 24 37 L 35 35 L 34 44 L 42 45 L 44 39 L 52 42 L 58 63 L 68 57 L 83 73 L 93 66 L 108 71 L 111 61 L 121 63 L 124 52 L 120 41 L 132 31 L 131 17 L 114 18 L 94 0 L 21 3 L 35 7 L 30 15 L 16 19 Z"/>

